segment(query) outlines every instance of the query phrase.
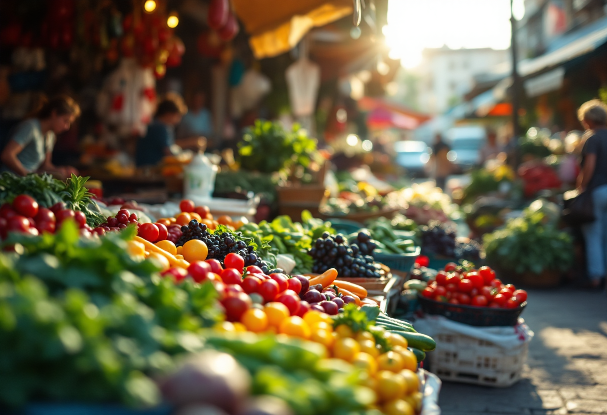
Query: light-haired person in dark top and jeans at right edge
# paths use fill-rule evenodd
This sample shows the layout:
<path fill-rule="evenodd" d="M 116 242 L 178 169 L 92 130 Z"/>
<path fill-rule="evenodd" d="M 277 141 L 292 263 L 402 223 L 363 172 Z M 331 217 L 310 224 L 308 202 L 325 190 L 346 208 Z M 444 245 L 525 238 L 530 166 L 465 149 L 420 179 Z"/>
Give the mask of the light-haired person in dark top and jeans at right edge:
<path fill-rule="evenodd" d="M 586 129 L 582 138 L 580 191 L 591 192 L 596 220 L 582 225 L 586 240 L 586 265 L 591 285 L 605 280 L 607 263 L 607 106 L 600 100 L 582 104 L 577 113 Z"/>

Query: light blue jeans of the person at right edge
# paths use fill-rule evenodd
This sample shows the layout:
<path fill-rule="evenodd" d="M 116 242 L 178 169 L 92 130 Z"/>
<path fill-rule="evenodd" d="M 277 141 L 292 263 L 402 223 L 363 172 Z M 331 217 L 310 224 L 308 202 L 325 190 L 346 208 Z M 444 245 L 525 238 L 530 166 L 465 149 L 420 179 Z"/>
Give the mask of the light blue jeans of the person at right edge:
<path fill-rule="evenodd" d="M 583 224 L 582 232 L 586 240 L 588 276 L 598 280 L 605 277 L 607 263 L 607 184 L 592 191 L 592 203 L 596 220 Z"/>

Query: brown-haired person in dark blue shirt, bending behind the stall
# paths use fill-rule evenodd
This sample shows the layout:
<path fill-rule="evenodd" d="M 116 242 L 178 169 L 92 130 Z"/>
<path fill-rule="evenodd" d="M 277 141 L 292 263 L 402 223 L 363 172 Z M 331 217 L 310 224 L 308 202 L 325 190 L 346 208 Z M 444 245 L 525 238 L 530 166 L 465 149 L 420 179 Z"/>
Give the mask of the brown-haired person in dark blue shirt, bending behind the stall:
<path fill-rule="evenodd" d="M 149 124 L 144 137 L 137 140 L 135 164 L 137 167 L 156 166 L 164 156 L 172 154 L 171 146 L 175 144 L 175 126 L 188 107 L 183 98 L 176 93 L 168 93 L 158 103 L 154 121 Z"/>

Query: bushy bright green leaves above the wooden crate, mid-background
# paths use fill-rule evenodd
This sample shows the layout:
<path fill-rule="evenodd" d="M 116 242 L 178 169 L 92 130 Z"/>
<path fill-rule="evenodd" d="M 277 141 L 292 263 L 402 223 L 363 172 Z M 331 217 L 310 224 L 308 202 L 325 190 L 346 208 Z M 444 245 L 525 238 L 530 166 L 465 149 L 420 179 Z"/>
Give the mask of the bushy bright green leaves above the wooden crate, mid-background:
<path fill-rule="evenodd" d="M 294 124 L 291 131 L 279 122 L 256 120 L 239 143 L 240 166 L 262 173 L 293 173 L 310 167 L 318 157 L 316 140 Z"/>

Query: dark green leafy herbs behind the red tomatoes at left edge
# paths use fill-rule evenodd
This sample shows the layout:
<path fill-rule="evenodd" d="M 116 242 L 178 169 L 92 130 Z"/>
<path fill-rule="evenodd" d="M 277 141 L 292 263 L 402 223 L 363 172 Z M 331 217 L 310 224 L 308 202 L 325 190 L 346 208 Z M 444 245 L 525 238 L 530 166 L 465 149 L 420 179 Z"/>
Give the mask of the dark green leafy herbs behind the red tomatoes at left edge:
<path fill-rule="evenodd" d="M 97 203 L 91 199 L 92 194 L 84 187 L 87 180 L 89 177 L 73 174 L 63 182 L 46 173 L 20 177 L 3 172 L 0 174 L 0 201 L 10 203 L 16 196 L 25 194 L 33 197 L 44 208 L 63 202 L 69 209 L 82 211 L 87 223 L 94 228 L 106 218 L 101 214 Z"/>

